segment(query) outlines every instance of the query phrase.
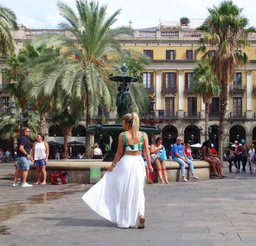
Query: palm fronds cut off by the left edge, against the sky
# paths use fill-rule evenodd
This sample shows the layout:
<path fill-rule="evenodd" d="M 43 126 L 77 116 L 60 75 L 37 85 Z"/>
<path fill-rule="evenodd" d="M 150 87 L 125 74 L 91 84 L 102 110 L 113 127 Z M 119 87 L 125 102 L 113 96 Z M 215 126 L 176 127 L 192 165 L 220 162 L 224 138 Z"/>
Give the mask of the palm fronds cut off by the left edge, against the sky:
<path fill-rule="evenodd" d="M 0 5 L 0 53 L 12 54 L 15 51 L 11 29 L 19 30 L 17 17 L 11 9 Z"/>

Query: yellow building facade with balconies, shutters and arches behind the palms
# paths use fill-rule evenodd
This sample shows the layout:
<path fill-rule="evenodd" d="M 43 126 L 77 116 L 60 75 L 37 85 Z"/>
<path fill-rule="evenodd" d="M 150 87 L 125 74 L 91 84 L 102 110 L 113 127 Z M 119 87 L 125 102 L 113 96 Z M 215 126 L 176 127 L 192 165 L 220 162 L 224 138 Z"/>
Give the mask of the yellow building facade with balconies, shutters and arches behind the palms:
<path fill-rule="evenodd" d="M 32 40 L 42 32 L 50 30 L 24 30 L 13 32 L 16 53 L 23 47 L 23 42 Z M 51 30 L 52 31 L 52 30 Z M 66 36 L 75 40 L 69 31 L 55 30 L 63 32 Z M 195 56 L 198 48 L 197 40 L 204 33 L 194 32 L 191 29 L 138 29 L 134 37 L 119 37 L 119 41 L 124 49 L 135 49 L 151 57 L 152 63 L 147 67 L 147 71 L 142 74 L 143 84 L 152 95 L 155 96 L 155 110 L 165 110 L 165 118 L 159 126 L 162 128 L 164 145 L 169 149 L 169 145 L 176 141 L 177 136 L 183 137 L 184 142 L 202 143 L 204 142 L 204 121 L 205 105 L 201 96 L 193 92 L 194 81 L 193 69 L 196 67 L 196 59 L 200 59 L 200 54 Z M 256 95 L 256 35 L 249 37 L 252 43 L 250 49 L 243 50 L 249 56 L 251 62 L 246 68 L 239 67 L 236 71 L 234 81 L 229 85 L 228 108 L 225 122 L 225 139 L 234 142 L 245 139 L 248 144 L 256 141 L 255 123 L 255 95 Z M 214 55 L 214 50 L 211 51 Z M 6 67 L 5 59 L 0 60 L 0 70 Z M 8 94 L 3 91 L 4 74 L 0 77 L 0 111 L 8 102 Z M 210 105 L 209 125 L 212 128 L 210 139 L 218 149 L 218 125 L 219 125 L 219 97 L 213 98 Z M 116 112 L 107 112 L 105 115 L 107 123 L 114 123 Z M 46 141 L 52 139 L 54 131 L 58 136 L 59 131 L 51 121 L 49 115 L 46 116 L 45 136 Z M 94 119 L 92 124 L 97 123 L 102 118 Z M 78 129 L 73 129 L 69 135 L 72 141 L 76 135 L 85 136 L 85 120 L 82 120 Z M 141 124 L 143 124 L 141 122 Z M 200 131 L 201 128 L 201 131 Z M 60 131 L 59 131 L 60 132 Z M 201 134 L 201 132 L 203 134 Z M 79 134 L 78 134 L 79 133 Z M 169 139 L 169 135 L 171 138 Z M 191 136 L 194 136 L 192 139 Z M 216 135 L 216 138 L 215 138 Z M 59 136 L 59 139 L 61 136 Z M 91 137 L 91 144 L 100 142 L 98 136 Z M 111 143 L 111 138 L 102 137 L 102 143 Z"/>

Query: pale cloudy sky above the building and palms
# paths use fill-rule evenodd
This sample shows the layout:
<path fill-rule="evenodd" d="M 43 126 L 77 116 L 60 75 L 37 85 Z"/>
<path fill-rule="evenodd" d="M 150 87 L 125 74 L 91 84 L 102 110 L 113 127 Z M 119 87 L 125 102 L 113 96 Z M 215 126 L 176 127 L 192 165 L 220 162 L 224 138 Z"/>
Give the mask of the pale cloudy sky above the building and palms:
<path fill-rule="evenodd" d="M 75 0 L 63 0 L 76 9 Z M 115 26 L 129 25 L 133 21 L 133 28 L 158 26 L 159 18 L 177 21 L 186 16 L 189 19 L 205 19 L 208 15 L 207 7 L 218 5 L 216 0 L 99 0 L 100 4 L 108 4 L 108 14 L 122 8 Z M 251 26 L 256 26 L 255 0 L 233 0 L 240 8 L 244 8 L 244 15 L 250 20 Z M 18 23 L 30 29 L 55 29 L 62 21 L 54 0 L 1 0 L 4 5 L 15 11 Z"/>

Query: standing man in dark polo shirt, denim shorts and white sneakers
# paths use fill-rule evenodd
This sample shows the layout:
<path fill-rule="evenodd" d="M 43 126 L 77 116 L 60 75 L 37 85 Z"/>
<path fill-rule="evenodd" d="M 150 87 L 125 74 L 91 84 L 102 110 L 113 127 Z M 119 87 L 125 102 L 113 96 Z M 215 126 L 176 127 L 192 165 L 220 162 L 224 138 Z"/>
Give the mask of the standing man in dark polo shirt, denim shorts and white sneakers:
<path fill-rule="evenodd" d="M 29 155 L 29 141 L 28 137 L 30 135 L 30 130 L 27 127 L 22 128 L 22 135 L 18 140 L 18 148 L 17 148 L 17 170 L 14 173 L 14 180 L 12 186 L 18 186 L 17 179 L 19 177 L 20 171 L 23 170 L 22 173 L 22 184 L 21 187 L 31 187 L 32 185 L 26 183 L 27 174 L 30 166 L 30 155 Z"/>

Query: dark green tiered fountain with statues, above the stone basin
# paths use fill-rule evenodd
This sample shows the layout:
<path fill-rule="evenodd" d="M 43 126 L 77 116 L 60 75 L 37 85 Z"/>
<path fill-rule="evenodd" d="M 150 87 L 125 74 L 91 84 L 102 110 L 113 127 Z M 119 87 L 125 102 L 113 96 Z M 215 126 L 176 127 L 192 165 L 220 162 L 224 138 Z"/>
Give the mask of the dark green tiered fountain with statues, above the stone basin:
<path fill-rule="evenodd" d="M 109 76 L 109 79 L 115 82 L 120 83 L 116 99 L 116 111 L 118 114 L 118 119 L 116 119 L 115 124 L 102 124 L 102 122 L 98 122 L 94 126 L 88 125 L 87 132 L 89 134 L 96 134 L 96 135 L 107 135 L 112 137 L 112 144 L 110 151 L 108 152 L 106 158 L 104 161 L 113 161 L 117 146 L 118 146 L 118 136 L 121 132 L 124 131 L 123 124 L 122 124 L 122 117 L 123 115 L 130 112 L 130 106 L 132 105 L 132 98 L 129 93 L 128 83 L 137 82 L 139 80 L 139 77 L 132 77 L 126 75 L 126 72 L 128 70 L 128 67 L 124 66 L 120 68 L 123 72 L 123 75 L 117 75 L 112 76 L 112 74 Z M 154 126 L 149 125 L 140 125 L 140 131 L 146 132 L 148 136 L 153 136 L 156 134 L 160 134 L 162 129 L 161 128 L 155 128 Z"/>

